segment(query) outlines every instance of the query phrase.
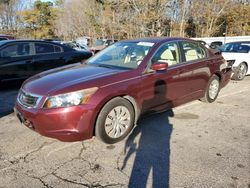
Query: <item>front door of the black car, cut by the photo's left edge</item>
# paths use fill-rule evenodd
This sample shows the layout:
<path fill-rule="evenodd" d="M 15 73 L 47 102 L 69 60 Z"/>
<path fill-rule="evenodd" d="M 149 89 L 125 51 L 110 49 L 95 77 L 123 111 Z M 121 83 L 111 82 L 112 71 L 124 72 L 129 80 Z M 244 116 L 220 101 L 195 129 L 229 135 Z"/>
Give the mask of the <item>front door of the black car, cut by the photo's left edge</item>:
<path fill-rule="evenodd" d="M 6 44 L 0 49 L 0 79 L 2 81 L 25 79 L 32 63 L 30 42 Z"/>

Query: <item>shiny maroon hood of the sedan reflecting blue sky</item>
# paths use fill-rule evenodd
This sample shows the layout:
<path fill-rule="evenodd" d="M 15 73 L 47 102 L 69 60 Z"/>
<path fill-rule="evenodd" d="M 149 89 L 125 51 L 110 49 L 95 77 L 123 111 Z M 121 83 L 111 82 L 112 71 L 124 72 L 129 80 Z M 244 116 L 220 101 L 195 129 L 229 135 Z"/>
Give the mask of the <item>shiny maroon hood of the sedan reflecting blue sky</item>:
<path fill-rule="evenodd" d="M 37 95 L 72 92 L 87 87 L 98 87 L 101 83 L 101 78 L 122 71 L 124 70 L 89 66 L 86 64 L 65 66 L 42 72 L 29 78 L 24 82 L 22 88 L 26 92 Z M 92 82 L 92 86 L 90 86 L 90 81 L 94 81 Z"/>

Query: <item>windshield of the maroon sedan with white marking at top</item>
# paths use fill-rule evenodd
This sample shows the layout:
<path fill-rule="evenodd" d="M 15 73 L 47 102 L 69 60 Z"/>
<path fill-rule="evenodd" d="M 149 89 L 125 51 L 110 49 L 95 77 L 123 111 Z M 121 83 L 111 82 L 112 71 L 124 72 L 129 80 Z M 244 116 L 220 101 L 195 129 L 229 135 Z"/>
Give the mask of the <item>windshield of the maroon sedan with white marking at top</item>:
<path fill-rule="evenodd" d="M 88 64 L 136 69 L 153 45 L 151 42 L 118 42 L 100 51 L 88 61 Z"/>

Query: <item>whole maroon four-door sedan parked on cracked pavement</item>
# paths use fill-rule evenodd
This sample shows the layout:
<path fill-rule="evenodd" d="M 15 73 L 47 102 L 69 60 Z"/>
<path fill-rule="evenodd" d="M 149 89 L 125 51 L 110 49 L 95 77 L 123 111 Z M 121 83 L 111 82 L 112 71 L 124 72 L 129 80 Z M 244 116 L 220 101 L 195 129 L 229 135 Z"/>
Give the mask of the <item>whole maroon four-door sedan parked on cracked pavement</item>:
<path fill-rule="evenodd" d="M 201 99 L 213 102 L 230 80 L 220 55 L 183 38 L 117 42 L 86 63 L 40 73 L 17 97 L 20 121 L 62 141 L 125 138 L 138 117 Z"/>

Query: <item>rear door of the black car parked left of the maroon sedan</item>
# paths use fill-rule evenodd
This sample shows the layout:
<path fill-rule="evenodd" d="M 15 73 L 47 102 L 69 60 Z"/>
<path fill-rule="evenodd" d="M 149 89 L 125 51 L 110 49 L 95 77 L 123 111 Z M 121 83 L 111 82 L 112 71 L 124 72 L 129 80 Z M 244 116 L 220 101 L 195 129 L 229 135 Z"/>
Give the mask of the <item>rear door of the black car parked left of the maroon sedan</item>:
<path fill-rule="evenodd" d="M 34 42 L 34 71 L 36 73 L 65 65 L 62 47 L 56 44 Z"/>

